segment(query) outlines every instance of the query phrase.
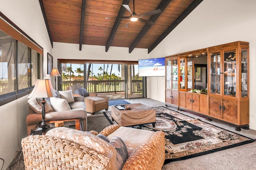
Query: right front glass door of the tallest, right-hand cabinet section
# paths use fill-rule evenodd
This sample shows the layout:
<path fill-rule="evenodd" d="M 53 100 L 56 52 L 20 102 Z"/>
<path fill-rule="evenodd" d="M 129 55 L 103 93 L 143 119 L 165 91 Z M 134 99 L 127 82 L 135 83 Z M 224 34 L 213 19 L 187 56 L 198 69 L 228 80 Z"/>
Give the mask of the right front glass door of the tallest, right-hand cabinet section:
<path fill-rule="evenodd" d="M 224 51 L 224 95 L 236 96 L 236 49 Z"/>

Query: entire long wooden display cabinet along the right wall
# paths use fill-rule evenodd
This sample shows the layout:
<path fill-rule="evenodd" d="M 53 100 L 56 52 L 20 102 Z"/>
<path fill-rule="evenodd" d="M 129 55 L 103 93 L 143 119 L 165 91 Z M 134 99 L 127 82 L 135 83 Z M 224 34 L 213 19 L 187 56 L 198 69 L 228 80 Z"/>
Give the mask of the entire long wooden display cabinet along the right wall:
<path fill-rule="evenodd" d="M 248 67 L 249 43 L 242 41 L 168 56 L 166 106 L 249 129 Z"/>

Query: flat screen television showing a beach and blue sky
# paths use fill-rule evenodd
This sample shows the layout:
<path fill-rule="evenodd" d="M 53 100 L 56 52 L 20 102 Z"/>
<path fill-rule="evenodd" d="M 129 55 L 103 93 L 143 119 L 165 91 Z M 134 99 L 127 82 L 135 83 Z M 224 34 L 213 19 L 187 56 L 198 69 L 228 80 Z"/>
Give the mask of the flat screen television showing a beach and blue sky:
<path fill-rule="evenodd" d="M 138 60 L 139 76 L 165 76 L 165 58 Z"/>

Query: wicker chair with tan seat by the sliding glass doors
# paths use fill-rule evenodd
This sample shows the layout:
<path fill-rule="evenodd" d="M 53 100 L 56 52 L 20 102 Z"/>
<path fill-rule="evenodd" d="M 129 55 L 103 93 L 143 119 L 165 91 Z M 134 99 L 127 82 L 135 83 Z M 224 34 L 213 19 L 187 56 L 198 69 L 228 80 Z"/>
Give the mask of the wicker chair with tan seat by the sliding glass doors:
<path fill-rule="evenodd" d="M 72 86 L 66 87 L 66 90 L 72 90 L 73 96 L 80 96 L 79 94 L 74 94 L 74 91 L 78 88 L 84 88 L 84 86 L 80 84 L 72 85 Z M 98 96 L 98 94 L 95 92 L 88 92 L 88 93 L 89 93 L 89 97 L 84 98 L 84 103 L 86 106 L 87 113 L 91 113 L 93 115 L 96 111 L 100 111 L 103 109 L 108 110 L 108 97 Z"/>

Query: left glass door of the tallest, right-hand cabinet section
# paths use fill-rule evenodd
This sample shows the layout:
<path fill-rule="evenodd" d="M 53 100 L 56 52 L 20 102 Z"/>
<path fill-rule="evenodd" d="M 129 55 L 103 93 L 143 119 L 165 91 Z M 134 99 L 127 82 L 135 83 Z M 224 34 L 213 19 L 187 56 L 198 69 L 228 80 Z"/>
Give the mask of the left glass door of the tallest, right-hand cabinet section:
<path fill-rule="evenodd" d="M 220 94 L 220 52 L 211 53 L 210 93 Z"/>

